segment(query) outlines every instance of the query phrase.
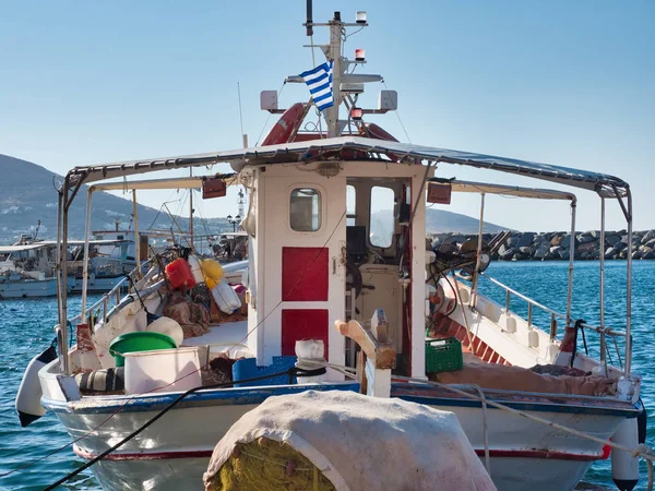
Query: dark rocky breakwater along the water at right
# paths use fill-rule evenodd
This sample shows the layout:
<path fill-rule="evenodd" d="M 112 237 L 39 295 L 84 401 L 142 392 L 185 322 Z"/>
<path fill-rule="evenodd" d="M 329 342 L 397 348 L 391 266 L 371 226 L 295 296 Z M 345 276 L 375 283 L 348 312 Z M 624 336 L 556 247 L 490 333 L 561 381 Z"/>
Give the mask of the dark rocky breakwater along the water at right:
<path fill-rule="evenodd" d="M 485 233 L 484 240 L 489 242 L 492 235 Z M 429 237 L 432 248 L 443 243 L 463 243 L 467 239 L 476 239 L 476 235 L 438 233 Z M 628 244 L 626 230 L 606 231 L 605 243 L 600 243 L 600 231 L 590 230 L 575 233 L 560 232 L 514 232 L 492 256 L 499 261 L 555 261 L 569 260 L 571 253 L 575 260 L 598 260 L 604 254 L 606 260 L 624 260 L 632 254 L 633 260 L 655 259 L 655 230 L 635 231 L 632 244 Z"/>

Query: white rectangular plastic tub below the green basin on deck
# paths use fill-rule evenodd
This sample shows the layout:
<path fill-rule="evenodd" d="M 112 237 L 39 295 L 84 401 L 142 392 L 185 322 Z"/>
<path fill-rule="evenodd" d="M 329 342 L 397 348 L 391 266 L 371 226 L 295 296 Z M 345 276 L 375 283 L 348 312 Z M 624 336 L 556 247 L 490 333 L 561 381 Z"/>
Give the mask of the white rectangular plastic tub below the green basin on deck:
<path fill-rule="evenodd" d="M 198 347 L 134 351 L 126 357 L 126 394 L 184 392 L 202 385 Z"/>

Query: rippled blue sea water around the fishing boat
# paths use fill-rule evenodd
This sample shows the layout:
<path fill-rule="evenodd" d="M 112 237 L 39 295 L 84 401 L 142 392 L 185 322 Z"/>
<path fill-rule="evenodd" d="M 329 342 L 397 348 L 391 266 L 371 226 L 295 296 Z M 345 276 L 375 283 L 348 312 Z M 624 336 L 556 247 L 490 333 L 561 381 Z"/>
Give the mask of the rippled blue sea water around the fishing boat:
<path fill-rule="evenodd" d="M 598 325 L 599 315 L 599 263 L 576 262 L 574 274 L 573 319 L 584 319 L 588 324 Z M 565 262 L 517 262 L 492 263 L 487 274 L 521 291 L 534 300 L 558 312 L 567 306 L 568 263 Z M 606 263 L 605 322 L 617 328 L 624 328 L 626 319 L 626 262 Z M 648 444 L 655 443 L 655 381 L 650 372 L 655 360 L 650 356 L 655 343 L 655 261 L 636 261 L 633 268 L 632 333 L 634 337 L 633 371 L 644 375 L 642 399 L 648 411 Z M 483 279 L 480 288 L 496 301 L 504 304 L 504 292 L 499 287 Z M 73 316 L 80 309 L 80 297 L 69 301 L 69 312 Z M 511 309 L 526 314 L 525 302 L 512 299 Z M 538 309 L 533 312 L 535 324 L 549 328 L 549 316 Z M 57 322 L 56 299 L 25 299 L 0 301 L 0 475 L 20 466 L 28 465 L 9 476 L 0 477 L 1 490 L 40 490 L 80 467 L 83 462 L 76 457 L 68 433 L 52 414 L 47 414 L 28 428 L 21 428 L 14 410 L 14 396 L 23 371 L 29 359 L 49 346 L 55 337 L 52 326 Z M 560 325 L 560 330 L 563 326 Z M 587 334 L 592 354 L 598 352 L 598 336 Z M 612 360 L 618 363 L 612 348 Z M 622 343 L 619 346 L 622 356 Z M 583 350 L 582 340 L 579 349 Z M 56 452 L 48 456 L 58 448 Z M 595 463 L 585 476 L 585 481 L 612 487 L 609 460 Z M 645 489 L 645 466 L 638 489 Z M 553 482 L 553 490 L 557 484 Z M 81 472 L 61 489 L 98 490 L 91 470 Z"/>

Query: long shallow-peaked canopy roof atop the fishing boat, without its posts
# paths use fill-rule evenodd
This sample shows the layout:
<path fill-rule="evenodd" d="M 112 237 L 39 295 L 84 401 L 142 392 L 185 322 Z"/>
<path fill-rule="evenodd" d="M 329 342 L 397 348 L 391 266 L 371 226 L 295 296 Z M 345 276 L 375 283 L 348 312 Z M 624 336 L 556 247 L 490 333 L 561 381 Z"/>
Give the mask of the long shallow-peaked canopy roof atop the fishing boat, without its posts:
<path fill-rule="evenodd" d="M 356 160 L 385 158 L 401 164 L 448 163 L 460 164 L 479 169 L 527 176 L 536 179 L 573 185 L 596 191 L 602 196 L 626 195 L 628 183 L 617 177 L 590 170 L 539 164 L 515 158 L 497 157 L 486 154 L 413 145 L 360 136 L 341 136 L 335 139 L 311 140 L 282 145 L 238 148 L 209 154 L 183 155 L 90 167 L 75 167 L 69 172 L 71 184 L 94 182 L 103 179 L 127 177 L 164 169 L 179 169 L 230 163 L 235 170 L 245 166 L 260 166 L 278 163 L 305 163 L 324 159 L 348 158 Z"/>

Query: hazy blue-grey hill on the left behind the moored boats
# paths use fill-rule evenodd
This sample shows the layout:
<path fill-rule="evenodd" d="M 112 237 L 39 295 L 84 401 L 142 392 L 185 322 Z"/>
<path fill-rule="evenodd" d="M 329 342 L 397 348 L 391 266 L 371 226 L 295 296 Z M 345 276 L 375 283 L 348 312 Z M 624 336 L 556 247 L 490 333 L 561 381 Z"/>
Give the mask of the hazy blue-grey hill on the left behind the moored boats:
<path fill-rule="evenodd" d="M 41 221 L 39 238 L 57 237 L 57 192 L 55 185 L 63 177 L 27 160 L 0 154 L 0 176 L 2 194 L 0 195 L 0 243 L 11 243 L 21 233 L 33 231 L 37 221 Z M 86 213 L 86 189 L 80 191 L 70 211 L 69 237 L 84 237 Z M 93 194 L 92 228 L 94 230 L 114 229 L 115 219 L 120 219 L 121 228 L 127 228 L 132 218 L 132 202 L 105 192 Z M 183 229 L 187 218 L 176 217 Z M 206 220 L 211 233 L 231 230 L 224 218 Z M 170 228 L 170 218 L 166 213 L 150 206 L 139 205 L 139 226 L 141 229 Z M 204 227 L 202 228 L 204 231 Z"/>

